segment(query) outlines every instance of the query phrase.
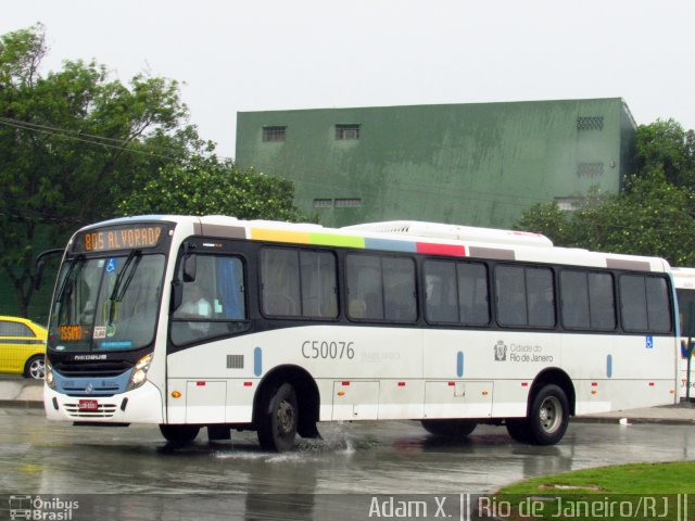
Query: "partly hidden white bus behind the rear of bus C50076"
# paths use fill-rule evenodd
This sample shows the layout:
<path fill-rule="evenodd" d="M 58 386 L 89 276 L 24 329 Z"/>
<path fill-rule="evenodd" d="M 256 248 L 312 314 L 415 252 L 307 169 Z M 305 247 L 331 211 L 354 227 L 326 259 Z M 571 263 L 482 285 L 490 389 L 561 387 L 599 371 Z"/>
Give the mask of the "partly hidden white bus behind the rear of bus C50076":
<path fill-rule="evenodd" d="M 672 268 L 672 272 L 681 326 L 680 397 L 695 398 L 695 360 L 692 358 L 690 382 L 687 378 L 687 343 L 688 339 L 695 341 L 695 268 Z"/>

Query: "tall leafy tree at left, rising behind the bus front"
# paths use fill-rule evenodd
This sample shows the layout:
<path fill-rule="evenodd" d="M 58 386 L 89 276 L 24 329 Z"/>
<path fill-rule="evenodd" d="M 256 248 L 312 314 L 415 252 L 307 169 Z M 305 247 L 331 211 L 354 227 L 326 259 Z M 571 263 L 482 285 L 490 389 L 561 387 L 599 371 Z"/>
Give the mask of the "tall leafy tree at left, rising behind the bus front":
<path fill-rule="evenodd" d="M 40 73 L 41 25 L 0 37 L 0 269 L 24 316 L 39 229 L 67 230 L 114 215 L 117 201 L 159 168 L 211 152 L 178 84 L 138 75 L 128 86 L 93 62 Z"/>

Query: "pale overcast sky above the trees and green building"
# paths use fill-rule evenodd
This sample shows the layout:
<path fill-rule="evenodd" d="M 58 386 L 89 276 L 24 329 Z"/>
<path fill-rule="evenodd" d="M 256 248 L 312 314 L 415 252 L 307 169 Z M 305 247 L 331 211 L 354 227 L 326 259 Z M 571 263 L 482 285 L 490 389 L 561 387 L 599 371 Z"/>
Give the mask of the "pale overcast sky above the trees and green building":
<path fill-rule="evenodd" d="M 622 98 L 695 128 L 693 0 L 4 0 L 0 35 L 46 27 L 43 71 L 181 82 L 235 156 L 238 112 Z"/>

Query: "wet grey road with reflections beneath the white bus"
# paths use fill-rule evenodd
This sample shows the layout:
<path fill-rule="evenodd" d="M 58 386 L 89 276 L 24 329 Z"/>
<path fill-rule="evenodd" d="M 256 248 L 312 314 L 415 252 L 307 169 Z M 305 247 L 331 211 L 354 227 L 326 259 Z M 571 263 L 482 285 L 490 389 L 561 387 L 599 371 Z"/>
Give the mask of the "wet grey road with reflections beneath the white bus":
<path fill-rule="evenodd" d="M 204 510 L 204 519 L 258 519 L 249 512 L 274 501 L 277 519 L 293 519 L 287 510 L 293 497 L 296 519 L 318 519 L 316 498 L 331 495 L 490 493 L 532 475 L 695 459 L 695 430 L 687 425 L 574 422 L 551 447 L 520 445 L 504 428 L 486 425 L 457 443 L 430 436 L 416 422 L 328 423 L 319 430 L 324 440 L 300 440 L 294 452 L 281 455 L 262 452 L 251 432 L 211 443 L 203 431 L 193 445 L 174 448 L 156 427 L 78 428 L 48 422 L 41 410 L 0 408 L 0 491 L 113 494 L 119 505 L 127 497 L 132 512 L 117 509 L 112 519 L 175 519 L 167 512 L 187 506 L 197 518 Z M 192 507 L 191 495 L 217 499 Z M 223 495 L 233 504 L 220 503 Z M 331 518 L 355 519 L 349 506 L 342 513 Z"/>

